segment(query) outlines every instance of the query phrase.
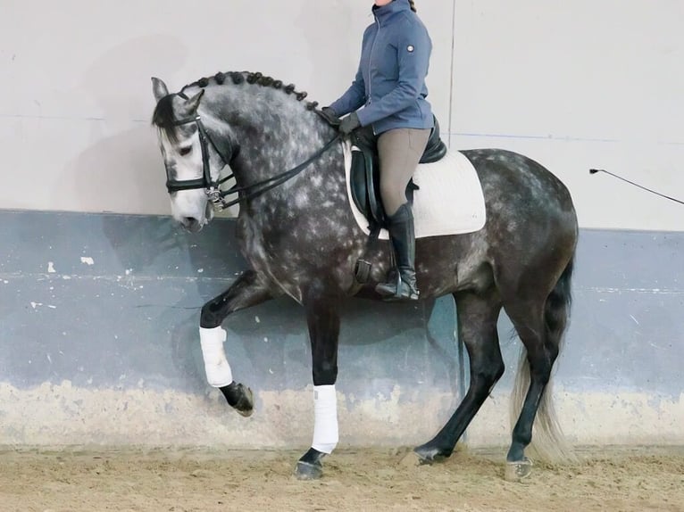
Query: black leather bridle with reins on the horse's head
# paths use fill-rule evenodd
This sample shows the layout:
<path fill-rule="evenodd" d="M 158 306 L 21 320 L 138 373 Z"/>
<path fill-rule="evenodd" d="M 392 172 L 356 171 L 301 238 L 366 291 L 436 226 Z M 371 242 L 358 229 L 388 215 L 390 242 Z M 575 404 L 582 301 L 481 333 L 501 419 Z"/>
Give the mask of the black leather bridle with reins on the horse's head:
<path fill-rule="evenodd" d="M 188 96 L 185 95 L 183 92 L 178 93 L 178 95 L 185 100 L 188 99 Z M 207 142 L 212 145 L 214 151 L 218 153 L 218 155 L 221 157 L 221 161 L 223 161 L 223 164 L 228 165 L 229 167 L 232 161 L 234 161 L 238 157 L 238 154 L 240 153 L 240 147 L 239 145 L 237 147 L 234 146 L 230 139 L 228 139 L 228 152 L 225 154 L 221 153 L 218 146 L 213 142 L 212 137 L 206 131 L 206 128 L 204 128 L 204 123 L 202 122 L 202 118 L 199 114 L 197 114 L 193 118 L 186 118 L 182 120 L 173 121 L 168 125 L 164 125 L 164 127 L 162 128 L 184 126 L 191 123 L 196 124 L 197 132 L 199 134 L 200 149 L 202 151 L 202 178 L 182 180 L 174 179 L 171 178 L 171 176 L 169 175 L 169 171 L 167 169 L 166 189 L 169 191 L 169 194 L 179 192 L 181 190 L 204 189 L 204 193 L 206 194 L 207 200 L 209 202 L 212 202 L 213 209 L 215 211 L 222 211 L 228 208 L 229 206 L 238 204 L 238 202 L 252 199 L 263 194 L 264 192 L 271 190 L 271 188 L 282 185 L 283 183 L 288 181 L 288 179 L 294 178 L 297 174 L 306 169 L 306 167 L 308 167 L 314 160 L 318 159 L 321 156 L 321 154 L 328 151 L 329 148 L 340 139 L 340 135 L 336 135 L 326 145 L 321 147 L 320 150 L 318 150 L 316 153 L 313 153 L 313 155 L 310 158 L 300 163 L 293 169 L 286 170 L 284 172 L 281 172 L 280 174 L 277 174 L 276 176 L 263 179 L 262 181 L 253 183 L 252 185 L 235 185 L 231 186 L 228 190 L 221 190 L 220 186 L 226 181 L 228 181 L 230 178 L 234 178 L 235 174 L 230 173 L 229 176 L 225 178 L 220 178 L 217 180 L 212 179 L 211 168 L 209 165 L 209 150 Z M 226 199 L 226 196 L 231 194 L 238 194 L 238 197 L 231 201 L 228 201 Z"/>

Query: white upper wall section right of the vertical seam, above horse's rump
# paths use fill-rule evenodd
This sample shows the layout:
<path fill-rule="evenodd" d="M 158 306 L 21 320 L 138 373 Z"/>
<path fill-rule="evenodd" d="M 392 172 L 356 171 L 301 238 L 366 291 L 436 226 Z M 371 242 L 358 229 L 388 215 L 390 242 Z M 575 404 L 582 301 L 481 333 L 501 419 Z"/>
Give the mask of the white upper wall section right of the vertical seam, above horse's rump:
<path fill-rule="evenodd" d="M 582 227 L 684 230 L 684 2 L 456 2 L 452 145 L 525 153 Z"/>

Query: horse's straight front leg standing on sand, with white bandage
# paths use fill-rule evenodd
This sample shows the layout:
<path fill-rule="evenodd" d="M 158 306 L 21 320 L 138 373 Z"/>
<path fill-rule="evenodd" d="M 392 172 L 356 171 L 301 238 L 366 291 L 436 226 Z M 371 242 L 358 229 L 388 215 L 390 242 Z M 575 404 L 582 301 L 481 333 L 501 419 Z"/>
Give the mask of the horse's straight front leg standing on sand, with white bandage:
<path fill-rule="evenodd" d="M 313 442 L 296 465 L 302 480 L 320 478 L 322 459 L 338 444 L 339 299 L 314 294 L 304 301 L 313 359 Z"/>

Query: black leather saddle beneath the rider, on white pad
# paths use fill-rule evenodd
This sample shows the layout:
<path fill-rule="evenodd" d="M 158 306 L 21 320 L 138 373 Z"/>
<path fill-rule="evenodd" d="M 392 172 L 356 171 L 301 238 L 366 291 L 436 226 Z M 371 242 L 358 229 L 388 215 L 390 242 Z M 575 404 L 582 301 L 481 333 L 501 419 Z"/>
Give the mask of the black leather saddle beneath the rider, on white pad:
<path fill-rule="evenodd" d="M 439 124 L 430 132 L 428 145 L 421 156 L 420 163 L 432 163 L 446 155 L 446 145 L 439 138 Z M 385 209 L 380 197 L 380 165 L 376 136 L 371 127 L 361 128 L 352 133 L 352 168 L 349 186 L 356 208 L 363 213 L 370 224 L 371 232 L 387 227 Z M 413 191 L 418 186 L 413 179 L 406 186 L 406 198 L 413 203 Z"/>

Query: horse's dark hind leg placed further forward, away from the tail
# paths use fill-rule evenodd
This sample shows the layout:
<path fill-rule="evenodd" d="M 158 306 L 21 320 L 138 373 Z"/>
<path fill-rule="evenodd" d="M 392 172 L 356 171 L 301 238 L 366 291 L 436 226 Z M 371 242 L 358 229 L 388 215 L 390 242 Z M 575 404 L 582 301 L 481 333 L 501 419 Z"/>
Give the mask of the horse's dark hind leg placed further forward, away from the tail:
<path fill-rule="evenodd" d="M 430 442 L 415 452 L 422 462 L 449 457 L 456 442 L 471 423 L 496 381 L 504 374 L 496 320 L 501 301 L 496 291 L 487 295 L 455 294 L 458 313 L 458 336 L 465 343 L 471 362 L 471 383 L 455 413 Z"/>

